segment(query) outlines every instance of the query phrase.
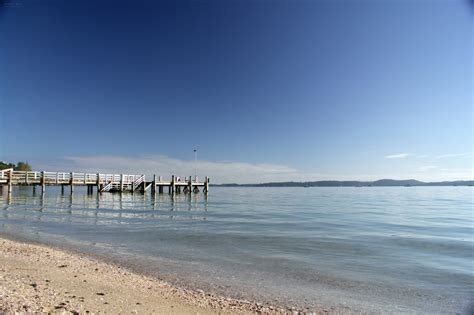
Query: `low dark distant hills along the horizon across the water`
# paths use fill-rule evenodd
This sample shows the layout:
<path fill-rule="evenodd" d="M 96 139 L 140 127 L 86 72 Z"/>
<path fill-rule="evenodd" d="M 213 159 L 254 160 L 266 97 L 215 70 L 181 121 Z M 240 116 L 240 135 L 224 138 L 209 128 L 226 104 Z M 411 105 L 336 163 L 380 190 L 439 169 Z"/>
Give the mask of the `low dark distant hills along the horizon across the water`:
<path fill-rule="evenodd" d="M 321 180 L 314 182 L 271 182 L 261 184 L 221 184 L 221 187 L 390 187 L 390 186 L 474 186 L 473 180 L 422 182 L 416 179 L 379 179 L 376 181 Z"/>

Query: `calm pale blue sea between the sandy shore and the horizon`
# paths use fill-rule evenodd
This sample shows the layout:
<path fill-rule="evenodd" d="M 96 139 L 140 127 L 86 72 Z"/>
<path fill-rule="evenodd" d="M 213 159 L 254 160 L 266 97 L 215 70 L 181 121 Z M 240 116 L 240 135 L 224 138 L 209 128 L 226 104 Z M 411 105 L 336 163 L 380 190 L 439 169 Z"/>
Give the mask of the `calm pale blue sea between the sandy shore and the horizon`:
<path fill-rule="evenodd" d="M 217 188 L 73 196 L 15 188 L 0 233 L 80 250 L 175 284 L 273 305 L 465 313 L 472 187 Z"/>

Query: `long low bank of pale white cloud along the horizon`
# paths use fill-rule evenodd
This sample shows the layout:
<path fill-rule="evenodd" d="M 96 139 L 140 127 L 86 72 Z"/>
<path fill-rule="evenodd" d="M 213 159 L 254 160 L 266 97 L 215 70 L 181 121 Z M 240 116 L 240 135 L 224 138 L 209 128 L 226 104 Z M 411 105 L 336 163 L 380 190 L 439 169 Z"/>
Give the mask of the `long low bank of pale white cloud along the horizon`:
<path fill-rule="evenodd" d="M 35 170 L 90 172 L 90 173 L 124 173 L 153 174 L 170 178 L 172 174 L 185 177 L 195 174 L 193 160 L 180 160 L 163 155 L 148 156 L 69 156 L 56 160 L 36 160 Z M 232 161 L 198 161 L 196 171 L 199 178 L 209 176 L 211 183 L 263 183 L 278 181 L 316 181 L 316 180 L 362 180 L 372 181 L 381 178 L 418 179 L 423 181 L 472 180 L 472 169 L 436 168 L 434 165 L 404 168 L 395 171 L 379 169 L 371 172 L 371 167 L 360 172 L 351 173 L 316 173 L 305 172 L 293 167 L 268 163 L 245 163 Z M 149 177 L 150 176 L 150 177 Z"/>

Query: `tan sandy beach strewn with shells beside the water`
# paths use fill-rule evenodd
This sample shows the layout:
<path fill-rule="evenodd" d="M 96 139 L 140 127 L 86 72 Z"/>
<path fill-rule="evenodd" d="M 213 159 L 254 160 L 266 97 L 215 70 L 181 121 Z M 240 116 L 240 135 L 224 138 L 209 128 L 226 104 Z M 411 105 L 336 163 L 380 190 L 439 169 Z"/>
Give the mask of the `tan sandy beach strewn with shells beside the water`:
<path fill-rule="evenodd" d="M 1 312 L 242 314 L 285 310 L 180 289 L 90 257 L 0 238 Z"/>

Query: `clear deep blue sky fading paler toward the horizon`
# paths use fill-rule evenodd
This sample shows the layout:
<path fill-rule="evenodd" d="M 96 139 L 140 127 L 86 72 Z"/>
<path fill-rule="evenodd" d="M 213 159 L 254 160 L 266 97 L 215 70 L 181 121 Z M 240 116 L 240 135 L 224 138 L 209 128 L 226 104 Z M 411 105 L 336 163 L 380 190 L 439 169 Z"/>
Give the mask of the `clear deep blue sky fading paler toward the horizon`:
<path fill-rule="evenodd" d="M 215 182 L 472 179 L 473 18 L 443 0 L 7 0 L 0 159 Z"/>

